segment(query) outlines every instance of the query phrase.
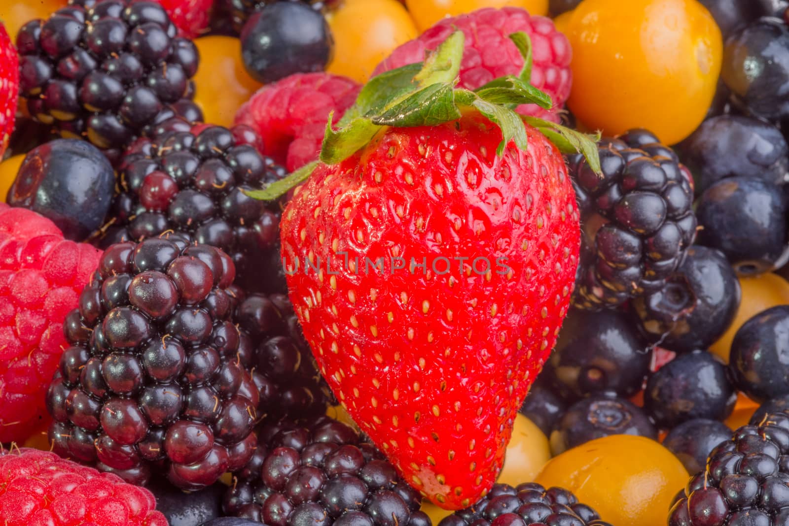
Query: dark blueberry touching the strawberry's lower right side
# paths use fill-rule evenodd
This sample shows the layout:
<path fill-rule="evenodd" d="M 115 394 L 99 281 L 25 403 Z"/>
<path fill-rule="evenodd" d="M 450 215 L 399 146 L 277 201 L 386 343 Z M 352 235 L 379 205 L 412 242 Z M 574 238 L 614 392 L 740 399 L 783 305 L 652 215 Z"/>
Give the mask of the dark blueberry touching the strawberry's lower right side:
<path fill-rule="evenodd" d="M 572 309 L 542 375 L 567 399 L 613 391 L 623 398 L 641 391 L 652 348 L 623 313 Z"/>

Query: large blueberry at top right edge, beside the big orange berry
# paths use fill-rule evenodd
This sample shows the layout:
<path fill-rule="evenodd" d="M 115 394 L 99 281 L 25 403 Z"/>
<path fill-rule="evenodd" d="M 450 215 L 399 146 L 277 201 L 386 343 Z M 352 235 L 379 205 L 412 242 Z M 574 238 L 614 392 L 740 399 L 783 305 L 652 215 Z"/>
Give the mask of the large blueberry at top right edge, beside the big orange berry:
<path fill-rule="evenodd" d="M 761 18 L 735 31 L 724 48 L 724 82 L 757 117 L 789 117 L 789 28 L 783 20 Z"/>

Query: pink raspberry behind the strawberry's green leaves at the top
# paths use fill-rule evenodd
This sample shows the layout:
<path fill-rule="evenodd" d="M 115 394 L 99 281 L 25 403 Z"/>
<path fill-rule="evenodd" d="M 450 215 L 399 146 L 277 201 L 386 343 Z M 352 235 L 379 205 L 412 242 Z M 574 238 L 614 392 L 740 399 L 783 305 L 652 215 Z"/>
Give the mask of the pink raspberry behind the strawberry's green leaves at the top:
<path fill-rule="evenodd" d="M 519 31 L 528 34 L 532 40 L 531 83 L 551 95 L 554 106 L 547 112 L 529 104 L 520 106 L 518 112 L 559 122 L 555 112 L 564 106 L 572 84 L 570 42 L 551 19 L 533 17 L 518 7 L 478 9 L 459 17 L 444 18 L 417 39 L 395 49 L 376 67 L 373 76 L 423 61 L 426 51 L 435 50 L 458 29 L 466 35 L 459 85 L 469 90 L 499 76 L 517 76 L 523 68 L 523 58 L 508 35 Z"/>

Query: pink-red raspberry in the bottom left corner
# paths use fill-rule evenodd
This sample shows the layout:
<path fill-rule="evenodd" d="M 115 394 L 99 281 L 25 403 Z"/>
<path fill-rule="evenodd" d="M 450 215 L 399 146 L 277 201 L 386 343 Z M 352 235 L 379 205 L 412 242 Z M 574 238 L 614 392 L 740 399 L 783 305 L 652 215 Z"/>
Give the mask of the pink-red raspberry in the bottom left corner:
<path fill-rule="evenodd" d="M 111 473 L 23 448 L 0 453 L 5 526 L 167 526 L 151 492 Z"/>

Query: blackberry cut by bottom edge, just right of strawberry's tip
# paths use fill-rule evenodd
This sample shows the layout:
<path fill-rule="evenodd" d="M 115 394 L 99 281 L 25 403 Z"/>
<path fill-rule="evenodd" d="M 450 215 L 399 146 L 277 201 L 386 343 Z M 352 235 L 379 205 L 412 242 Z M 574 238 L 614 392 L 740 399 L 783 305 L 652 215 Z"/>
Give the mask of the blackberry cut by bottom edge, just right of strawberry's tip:
<path fill-rule="evenodd" d="M 611 526 L 560 487 L 538 483 L 493 484 L 480 501 L 444 517 L 439 526 Z"/>

